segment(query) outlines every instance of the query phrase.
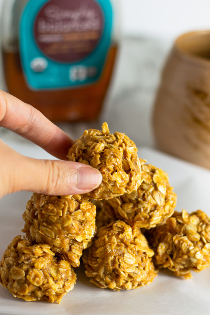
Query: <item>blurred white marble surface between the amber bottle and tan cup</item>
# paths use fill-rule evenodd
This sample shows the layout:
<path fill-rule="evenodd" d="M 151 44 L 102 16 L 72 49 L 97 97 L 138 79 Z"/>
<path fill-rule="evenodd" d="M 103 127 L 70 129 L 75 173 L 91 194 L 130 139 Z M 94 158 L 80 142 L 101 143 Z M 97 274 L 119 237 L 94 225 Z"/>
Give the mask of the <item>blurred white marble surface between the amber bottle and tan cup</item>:
<path fill-rule="evenodd" d="M 138 147 L 155 148 L 151 128 L 153 100 L 160 71 L 171 45 L 171 40 L 166 38 L 124 38 L 110 93 L 99 120 L 94 123 L 63 123 L 59 126 L 73 139 L 77 139 L 85 129 L 100 129 L 102 122 L 107 121 L 111 132 L 124 132 Z M 0 88 L 5 89 L 2 75 Z M 0 128 L 0 137 L 11 146 L 16 143 L 15 148 L 25 153 L 27 140 L 3 128 Z"/>

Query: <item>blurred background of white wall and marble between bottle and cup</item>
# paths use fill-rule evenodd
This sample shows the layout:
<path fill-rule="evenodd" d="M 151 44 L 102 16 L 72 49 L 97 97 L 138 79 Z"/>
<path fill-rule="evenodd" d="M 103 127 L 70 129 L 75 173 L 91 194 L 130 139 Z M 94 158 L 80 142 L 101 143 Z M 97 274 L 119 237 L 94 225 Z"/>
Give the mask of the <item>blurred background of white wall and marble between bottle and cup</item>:
<path fill-rule="evenodd" d="M 0 0 L 0 11 L 3 2 Z M 94 122 L 57 124 L 76 139 L 85 129 L 100 129 L 101 123 L 107 121 L 111 132 L 124 132 L 138 147 L 155 148 L 151 115 L 165 58 L 180 34 L 210 29 L 210 3 L 207 0 L 120 0 L 119 3 L 119 50 L 99 119 Z M 7 90 L 2 64 L 0 88 Z M 20 140 L 3 129 L 0 136 L 15 148 L 16 140 Z"/>

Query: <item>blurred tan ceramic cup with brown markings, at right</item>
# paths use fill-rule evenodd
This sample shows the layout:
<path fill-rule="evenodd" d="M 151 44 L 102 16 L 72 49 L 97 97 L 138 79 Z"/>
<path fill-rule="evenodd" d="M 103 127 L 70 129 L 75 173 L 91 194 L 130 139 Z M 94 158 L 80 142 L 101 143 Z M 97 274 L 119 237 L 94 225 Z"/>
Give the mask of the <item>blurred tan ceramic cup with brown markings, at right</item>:
<path fill-rule="evenodd" d="M 153 129 L 160 150 L 210 169 L 210 31 L 175 41 L 157 92 Z"/>

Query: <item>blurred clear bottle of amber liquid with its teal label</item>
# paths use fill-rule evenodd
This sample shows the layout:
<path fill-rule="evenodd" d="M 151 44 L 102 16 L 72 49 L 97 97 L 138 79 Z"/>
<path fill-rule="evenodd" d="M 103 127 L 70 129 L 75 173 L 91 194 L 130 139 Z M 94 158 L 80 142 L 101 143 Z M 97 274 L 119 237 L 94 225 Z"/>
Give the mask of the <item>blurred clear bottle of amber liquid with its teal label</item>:
<path fill-rule="evenodd" d="M 116 11 L 109 0 L 6 0 L 9 93 L 52 121 L 96 119 L 116 61 Z"/>

